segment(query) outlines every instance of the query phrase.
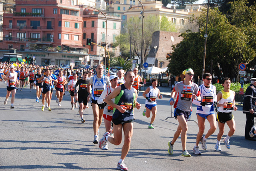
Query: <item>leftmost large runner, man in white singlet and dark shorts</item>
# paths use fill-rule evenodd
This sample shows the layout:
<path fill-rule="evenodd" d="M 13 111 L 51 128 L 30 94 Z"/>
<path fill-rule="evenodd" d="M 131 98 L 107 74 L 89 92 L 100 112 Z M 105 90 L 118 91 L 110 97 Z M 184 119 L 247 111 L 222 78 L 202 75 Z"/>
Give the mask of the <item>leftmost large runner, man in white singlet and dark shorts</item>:
<path fill-rule="evenodd" d="M 12 93 L 12 100 L 11 100 L 11 106 L 10 108 L 14 108 L 14 100 L 15 100 L 15 94 L 16 90 L 18 89 L 16 85 L 19 85 L 19 82 L 17 80 L 17 72 L 14 71 L 15 66 L 10 66 L 10 71 L 6 74 L 6 77 L 4 78 L 5 81 L 7 81 L 7 94 L 6 94 L 6 100 L 3 102 L 4 105 L 7 104 L 7 101 Z"/>

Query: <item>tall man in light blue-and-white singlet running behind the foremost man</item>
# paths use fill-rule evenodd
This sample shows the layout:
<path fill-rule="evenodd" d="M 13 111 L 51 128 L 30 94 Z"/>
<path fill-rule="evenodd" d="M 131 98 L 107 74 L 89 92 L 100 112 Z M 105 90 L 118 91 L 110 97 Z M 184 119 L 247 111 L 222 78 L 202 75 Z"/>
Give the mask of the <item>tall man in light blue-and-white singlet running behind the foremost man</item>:
<path fill-rule="evenodd" d="M 98 104 L 97 100 L 102 94 L 103 90 L 107 88 L 107 86 L 111 86 L 109 81 L 109 77 L 103 74 L 103 65 L 98 65 L 96 67 L 97 74 L 90 78 L 90 83 L 88 84 L 88 93 L 89 96 L 92 97 L 92 106 L 93 106 L 93 132 L 94 132 L 94 140 L 93 144 L 99 143 L 99 126 L 102 123 L 103 110 L 105 107 L 105 103 Z M 92 88 L 91 86 L 92 85 Z M 92 94 L 90 94 L 92 90 Z"/>

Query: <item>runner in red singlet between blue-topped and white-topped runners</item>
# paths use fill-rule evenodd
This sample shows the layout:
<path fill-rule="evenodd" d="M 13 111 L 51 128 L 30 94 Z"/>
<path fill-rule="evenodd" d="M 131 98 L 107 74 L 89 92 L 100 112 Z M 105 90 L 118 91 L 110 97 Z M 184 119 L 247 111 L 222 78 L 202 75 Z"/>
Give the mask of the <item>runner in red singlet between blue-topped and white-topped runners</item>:
<path fill-rule="evenodd" d="M 58 103 L 58 106 L 61 106 L 61 100 L 63 98 L 64 89 L 65 89 L 64 85 L 67 84 L 67 80 L 63 76 L 63 71 L 59 72 L 57 80 L 58 80 L 58 83 L 56 85 L 56 95 L 57 95 L 56 103 Z"/>

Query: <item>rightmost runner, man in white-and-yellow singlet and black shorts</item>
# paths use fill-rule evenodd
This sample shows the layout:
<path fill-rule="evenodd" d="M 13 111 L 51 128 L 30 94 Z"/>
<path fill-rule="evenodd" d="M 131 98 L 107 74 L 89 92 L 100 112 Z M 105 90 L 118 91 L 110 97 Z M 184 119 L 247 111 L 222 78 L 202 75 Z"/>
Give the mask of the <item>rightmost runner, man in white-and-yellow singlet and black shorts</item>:
<path fill-rule="evenodd" d="M 224 134 L 224 126 L 227 123 L 230 131 L 227 134 L 227 137 L 223 139 L 223 142 L 226 145 L 226 148 L 230 148 L 229 139 L 236 131 L 236 123 L 234 120 L 234 116 L 232 114 L 232 110 L 236 111 L 236 103 L 235 103 L 235 91 L 230 90 L 231 80 L 230 78 L 224 78 L 222 80 L 222 86 L 224 90 L 221 90 L 217 94 L 217 102 L 218 102 L 218 113 L 217 113 L 217 121 L 219 133 L 217 135 L 217 143 L 215 145 L 216 151 L 221 151 L 221 137 Z"/>

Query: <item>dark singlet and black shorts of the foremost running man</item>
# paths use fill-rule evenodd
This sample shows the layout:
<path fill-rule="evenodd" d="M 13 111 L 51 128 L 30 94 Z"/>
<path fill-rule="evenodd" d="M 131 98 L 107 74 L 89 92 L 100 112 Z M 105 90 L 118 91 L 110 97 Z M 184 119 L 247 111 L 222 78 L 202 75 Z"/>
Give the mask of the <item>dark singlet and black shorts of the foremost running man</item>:
<path fill-rule="evenodd" d="M 126 110 L 124 113 L 121 113 L 119 110 L 114 108 L 113 119 L 120 121 L 128 121 L 134 119 L 133 104 L 135 99 L 136 94 L 134 92 L 134 88 L 132 87 L 131 90 L 128 90 L 125 88 L 125 85 L 122 84 L 119 95 L 115 97 L 115 104 L 125 106 Z"/>

